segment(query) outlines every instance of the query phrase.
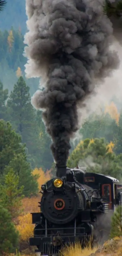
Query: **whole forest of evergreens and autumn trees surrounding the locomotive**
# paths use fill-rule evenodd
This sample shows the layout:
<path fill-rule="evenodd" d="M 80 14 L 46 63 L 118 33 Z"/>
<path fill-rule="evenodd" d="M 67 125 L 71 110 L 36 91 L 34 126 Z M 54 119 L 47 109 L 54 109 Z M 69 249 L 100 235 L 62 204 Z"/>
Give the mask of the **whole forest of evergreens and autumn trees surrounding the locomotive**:
<path fill-rule="evenodd" d="M 39 79 L 25 77 L 25 0 L 0 1 L 0 256 L 35 255 L 30 212 L 38 212 L 41 185 L 55 175 L 51 138 L 40 110 L 31 104 Z M 122 3 L 106 2 L 108 16 Z M 111 175 L 122 183 L 122 102 L 114 95 L 101 112 L 92 113 L 71 141 L 67 166 Z M 121 207 L 113 217 L 110 237 L 122 236 Z M 4 220 L 4 221 L 3 221 Z M 19 253 L 20 252 L 20 253 Z M 91 251 L 92 253 L 93 251 Z M 72 254 L 74 255 L 74 254 Z M 81 255 L 81 254 L 79 254 Z M 88 254 L 82 254 L 86 256 Z M 69 255 L 71 256 L 71 255 Z"/>

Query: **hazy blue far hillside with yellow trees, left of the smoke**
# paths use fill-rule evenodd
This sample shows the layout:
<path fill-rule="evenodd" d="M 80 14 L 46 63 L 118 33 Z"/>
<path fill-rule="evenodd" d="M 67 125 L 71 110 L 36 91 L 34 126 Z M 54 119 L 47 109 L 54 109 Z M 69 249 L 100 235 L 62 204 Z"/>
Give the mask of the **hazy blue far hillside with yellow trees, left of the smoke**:
<path fill-rule="evenodd" d="M 0 30 L 0 78 L 4 88 L 8 88 L 9 93 L 13 89 L 20 74 L 25 78 L 24 65 L 26 58 L 23 56 L 23 39 L 24 37 L 20 29 L 14 30 L 11 28 L 10 31 Z M 25 80 L 30 87 L 30 94 L 32 96 L 38 88 L 39 80 L 36 78 L 25 78 Z"/>

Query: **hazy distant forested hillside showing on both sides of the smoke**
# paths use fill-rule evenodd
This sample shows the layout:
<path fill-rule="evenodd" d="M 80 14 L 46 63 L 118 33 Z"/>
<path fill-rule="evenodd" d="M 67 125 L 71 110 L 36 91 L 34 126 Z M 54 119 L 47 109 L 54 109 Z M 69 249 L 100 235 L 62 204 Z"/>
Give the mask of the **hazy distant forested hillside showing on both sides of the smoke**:
<path fill-rule="evenodd" d="M 110 14 L 109 10 L 110 8 L 107 8 Z M 115 11 L 117 12 L 118 9 Z M 24 24 L 26 27 L 25 20 L 25 1 L 12 1 L 11 8 L 8 1 L 0 17 L 0 118 L 10 121 L 12 128 L 21 135 L 21 142 L 26 143 L 27 159 L 32 168 L 37 166 L 46 170 L 50 169 L 53 163 L 50 151 L 51 139 L 45 131 L 41 112 L 31 106 L 31 96 L 37 90 L 39 80 L 25 78 L 26 58 L 23 56 L 25 31 L 22 26 Z M 18 22 L 21 24 L 18 25 Z M 114 153 L 122 153 L 121 102 L 114 97 L 108 106 L 101 107 L 101 115 L 94 113 L 85 121 L 80 136 L 75 143 L 71 143 L 71 152 L 81 138 L 82 140 L 104 138 L 106 143 L 114 144 Z"/>

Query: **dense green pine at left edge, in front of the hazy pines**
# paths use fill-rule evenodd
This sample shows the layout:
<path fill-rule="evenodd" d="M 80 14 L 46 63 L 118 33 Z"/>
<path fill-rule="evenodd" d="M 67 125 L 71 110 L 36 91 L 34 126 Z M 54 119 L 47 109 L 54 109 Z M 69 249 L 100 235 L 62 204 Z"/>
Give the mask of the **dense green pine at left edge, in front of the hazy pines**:
<path fill-rule="evenodd" d="M 12 130 L 9 122 L 0 120 L 0 178 L 5 183 L 5 175 L 10 169 L 19 176 L 19 186 L 24 186 L 23 193 L 26 196 L 36 194 L 38 183 L 36 177 L 31 174 L 30 164 L 27 162 L 25 145 L 21 143 L 21 136 Z"/>

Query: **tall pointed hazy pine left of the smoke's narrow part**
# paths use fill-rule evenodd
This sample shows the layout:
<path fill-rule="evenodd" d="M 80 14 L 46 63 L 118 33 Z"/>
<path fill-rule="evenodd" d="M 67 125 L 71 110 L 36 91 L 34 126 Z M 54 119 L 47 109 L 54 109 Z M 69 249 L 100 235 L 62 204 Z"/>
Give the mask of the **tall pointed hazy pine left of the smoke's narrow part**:
<path fill-rule="evenodd" d="M 28 155 L 31 155 L 35 161 L 34 163 L 31 161 L 32 167 L 35 167 L 40 159 L 39 130 L 35 120 L 35 110 L 31 105 L 29 87 L 22 76 L 11 92 L 7 106 L 13 127 L 21 135 L 22 142 L 26 143 Z"/>

